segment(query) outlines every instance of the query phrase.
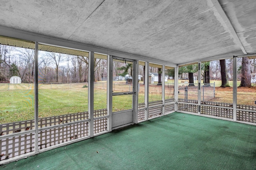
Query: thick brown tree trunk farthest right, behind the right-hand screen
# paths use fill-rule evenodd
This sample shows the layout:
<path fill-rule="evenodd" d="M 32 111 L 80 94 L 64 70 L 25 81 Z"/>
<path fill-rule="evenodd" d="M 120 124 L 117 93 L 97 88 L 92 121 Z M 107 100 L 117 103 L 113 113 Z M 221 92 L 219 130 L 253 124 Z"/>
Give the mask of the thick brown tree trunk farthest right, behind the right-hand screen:
<path fill-rule="evenodd" d="M 251 83 L 251 74 L 250 74 L 250 59 L 248 57 L 242 58 L 242 75 L 241 75 L 241 84 L 239 87 L 252 87 Z"/>

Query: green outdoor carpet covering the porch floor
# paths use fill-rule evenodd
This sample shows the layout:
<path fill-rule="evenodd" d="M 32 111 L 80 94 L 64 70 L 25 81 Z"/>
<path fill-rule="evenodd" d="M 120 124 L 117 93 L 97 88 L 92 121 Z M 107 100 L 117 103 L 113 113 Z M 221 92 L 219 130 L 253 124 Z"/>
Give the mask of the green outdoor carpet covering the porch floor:
<path fill-rule="evenodd" d="M 255 170 L 256 126 L 176 112 L 0 169 Z"/>

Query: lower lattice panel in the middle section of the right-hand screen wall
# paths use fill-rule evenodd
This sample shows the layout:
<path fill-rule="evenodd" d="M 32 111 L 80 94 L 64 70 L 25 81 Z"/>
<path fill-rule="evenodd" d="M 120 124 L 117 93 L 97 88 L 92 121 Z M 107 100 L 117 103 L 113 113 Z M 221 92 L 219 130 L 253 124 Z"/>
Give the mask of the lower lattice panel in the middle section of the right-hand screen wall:
<path fill-rule="evenodd" d="M 201 106 L 201 114 L 233 119 L 233 109 L 214 106 Z"/>

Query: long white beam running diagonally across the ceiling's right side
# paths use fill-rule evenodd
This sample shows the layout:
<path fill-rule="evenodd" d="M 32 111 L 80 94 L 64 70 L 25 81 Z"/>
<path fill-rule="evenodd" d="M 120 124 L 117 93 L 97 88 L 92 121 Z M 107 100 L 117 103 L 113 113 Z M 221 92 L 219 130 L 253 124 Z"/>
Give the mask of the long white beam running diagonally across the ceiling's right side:
<path fill-rule="evenodd" d="M 221 7 L 220 3 L 218 2 L 218 0 L 211 0 L 211 1 L 212 1 L 213 5 L 214 5 L 215 9 L 217 10 L 217 12 L 220 14 L 220 17 L 222 18 L 222 20 L 226 23 L 228 29 L 230 30 L 230 33 L 234 37 L 234 40 L 235 40 L 236 44 L 241 48 L 243 53 L 246 55 L 247 52 L 244 49 L 244 46 L 242 45 L 241 40 L 239 39 L 238 35 L 236 34 L 236 30 L 234 29 L 232 23 L 228 19 L 228 16 L 224 12 L 224 10 Z"/>

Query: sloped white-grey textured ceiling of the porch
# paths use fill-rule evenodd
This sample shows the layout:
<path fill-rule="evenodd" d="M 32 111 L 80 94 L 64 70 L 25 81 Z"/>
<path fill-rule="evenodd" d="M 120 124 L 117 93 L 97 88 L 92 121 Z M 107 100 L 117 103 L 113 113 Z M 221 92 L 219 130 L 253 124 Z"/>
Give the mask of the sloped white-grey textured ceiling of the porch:
<path fill-rule="evenodd" d="M 2 0 L 0 11 L 5 27 L 175 64 L 256 53 L 255 0 Z"/>

